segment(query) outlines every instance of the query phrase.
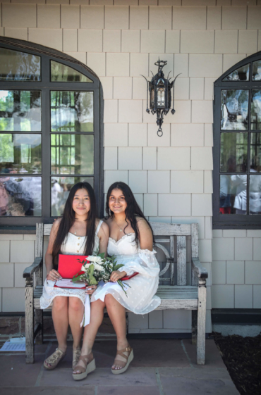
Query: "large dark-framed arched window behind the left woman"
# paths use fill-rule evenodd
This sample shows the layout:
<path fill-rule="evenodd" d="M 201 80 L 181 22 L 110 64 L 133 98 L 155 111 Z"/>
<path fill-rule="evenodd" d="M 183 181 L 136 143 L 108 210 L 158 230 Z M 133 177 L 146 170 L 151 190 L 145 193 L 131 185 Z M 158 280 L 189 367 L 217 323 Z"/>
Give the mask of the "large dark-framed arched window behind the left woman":
<path fill-rule="evenodd" d="M 1 225 L 53 222 L 83 180 L 93 185 L 102 215 L 102 114 L 102 85 L 90 68 L 0 37 Z"/>

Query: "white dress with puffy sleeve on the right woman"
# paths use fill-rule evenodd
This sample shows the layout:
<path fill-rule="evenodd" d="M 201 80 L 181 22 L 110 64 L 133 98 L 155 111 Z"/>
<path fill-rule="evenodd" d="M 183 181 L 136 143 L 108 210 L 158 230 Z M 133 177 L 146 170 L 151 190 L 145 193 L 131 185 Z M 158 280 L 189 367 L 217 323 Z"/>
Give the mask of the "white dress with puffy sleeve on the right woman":
<path fill-rule="evenodd" d="M 160 305 L 160 299 L 155 296 L 159 284 L 159 263 L 155 258 L 155 251 L 137 248 L 135 234 L 125 234 L 118 242 L 109 237 L 108 254 L 115 255 L 117 263 L 123 264 L 119 271 L 127 275 L 138 272 L 139 274 L 126 280 L 130 285 L 126 287 L 127 296 L 119 284 L 115 282 L 100 283 L 92 294 L 91 301 L 101 299 L 104 301 L 106 294 L 114 296 L 122 306 L 135 314 L 147 314 Z"/>

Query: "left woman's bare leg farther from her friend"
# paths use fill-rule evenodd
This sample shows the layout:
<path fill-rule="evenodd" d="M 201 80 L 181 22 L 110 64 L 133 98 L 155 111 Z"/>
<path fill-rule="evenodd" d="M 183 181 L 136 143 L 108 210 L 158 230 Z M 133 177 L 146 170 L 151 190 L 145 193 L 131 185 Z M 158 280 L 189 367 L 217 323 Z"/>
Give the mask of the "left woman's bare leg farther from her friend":
<path fill-rule="evenodd" d="M 67 332 L 68 332 L 68 297 L 56 296 L 54 298 L 51 316 L 54 322 L 58 348 L 61 351 L 67 349 Z M 49 363 L 47 365 L 51 366 Z"/>

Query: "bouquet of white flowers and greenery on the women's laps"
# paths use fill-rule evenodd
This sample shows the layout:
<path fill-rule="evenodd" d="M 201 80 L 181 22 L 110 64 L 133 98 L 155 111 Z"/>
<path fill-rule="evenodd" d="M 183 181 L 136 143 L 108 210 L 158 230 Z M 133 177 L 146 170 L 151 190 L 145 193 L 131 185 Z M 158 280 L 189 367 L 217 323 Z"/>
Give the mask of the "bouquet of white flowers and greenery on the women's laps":
<path fill-rule="evenodd" d="M 111 256 L 111 258 L 107 256 L 107 258 L 104 258 L 104 253 L 89 255 L 84 261 L 80 261 L 80 259 L 78 259 L 78 261 L 82 263 L 82 268 L 77 275 L 73 276 L 72 281 L 85 281 L 88 285 L 97 285 L 101 280 L 105 283 L 109 282 L 111 273 L 123 266 L 121 264 L 117 265 L 115 256 Z M 128 287 L 130 286 L 121 280 L 118 280 L 117 282 L 127 296 L 124 285 Z"/>

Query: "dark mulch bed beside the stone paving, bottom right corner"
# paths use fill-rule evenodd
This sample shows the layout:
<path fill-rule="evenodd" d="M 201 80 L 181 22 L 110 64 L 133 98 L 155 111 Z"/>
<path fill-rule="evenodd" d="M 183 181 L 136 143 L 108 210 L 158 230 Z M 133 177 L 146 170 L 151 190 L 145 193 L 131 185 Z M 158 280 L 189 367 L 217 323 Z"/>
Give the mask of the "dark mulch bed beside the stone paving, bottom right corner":
<path fill-rule="evenodd" d="M 261 334 L 257 337 L 214 333 L 229 375 L 241 395 L 261 394 Z"/>

